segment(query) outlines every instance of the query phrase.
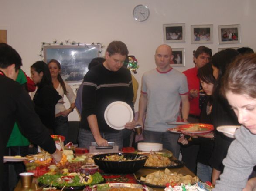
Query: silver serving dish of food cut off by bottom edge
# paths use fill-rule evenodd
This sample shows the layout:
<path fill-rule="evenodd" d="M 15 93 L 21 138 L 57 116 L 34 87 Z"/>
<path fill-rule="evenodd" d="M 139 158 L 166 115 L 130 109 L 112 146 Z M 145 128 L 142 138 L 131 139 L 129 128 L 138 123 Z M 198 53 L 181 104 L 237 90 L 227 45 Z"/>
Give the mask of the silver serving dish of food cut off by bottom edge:
<path fill-rule="evenodd" d="M 107 185 L 109 185 L 109 187 L 108 188 L 102 188 L 102 187 L 104 187 L 104 186 L 107 186 Z M 95 189 L 92 189 L 93 191 L 95 190 L 95 191 L 97 191 L 97 188 L 101 188 L 101 189 L 99 189 L 99 191 L 107 191 L 109 188 L 140 188 L 140 189 L 143 189 L 144 188 L 144 190 L 146 189 L 147 191 L 153 191 L 153 189 L 152 188 L 150 188 L 150 187 L 147 187 L 147 186 L 145 186 L 144 185 L 144 187 L 143 187 L 143 185 L 141 185 L 141 184 L 132 184 L 132 183 L 107 183 L 107 184 L 97 184 L 97 185 L 94 185 L 93 186 L 93 188 L 95 188 Z M 87 189 L 85 188 L 83 191 L 87 191 Z"/>

